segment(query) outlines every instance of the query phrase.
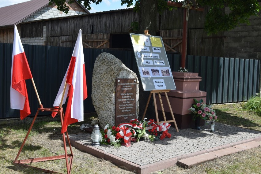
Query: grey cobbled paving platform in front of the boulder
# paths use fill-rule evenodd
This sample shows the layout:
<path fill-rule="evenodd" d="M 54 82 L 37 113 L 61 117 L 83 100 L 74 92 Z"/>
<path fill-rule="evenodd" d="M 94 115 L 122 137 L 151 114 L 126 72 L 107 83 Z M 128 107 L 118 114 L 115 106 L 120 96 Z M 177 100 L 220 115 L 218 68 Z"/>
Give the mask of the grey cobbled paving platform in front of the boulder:
<path fill-rule="evenodd" d="M 223 150 L 232 145 L 240 150 L 261 145 L 261 132 L 259 131 L 220 123 L 216 123 L 215 132 L 210 132 L 209 125 L 204 125 L 201 128 L 202 130 L 183 129 L 176 132 L 176 129 L 171 127 L 168 131 L 172 135 L 170 139 L 165 138 L 154 142 L 141 140 L 137 143 L 132 142 L 129 147 L 121 146 L 119 149 L 108 145 L 90 146 L 92 140 L 90 139 L 90 133 L 86 132 L 71 134 L 70 141 L 74 147 L 90 154 L 94 152 L 95 156 L 103 157 L 104 153 L 108 153 L 112 157 L 115 156 L 129 161 L 130 164 L 143 166 L 140 168 L 139 174 L 146 173 L 143 170 L 146 170 L 148 165 L 160 164 L 160 162 L 166 163 L 165 161 L 172 158 L 183 160 L 195 155 L 199 156 L 207 153 L 213 155 L 210 152 Z M 240 146 L 242 143 L 245 145 Z M 87 148 L 87 150 L 83 148 Z M 135 152 L 140 155 L 133 155 Z M 214 156 L 221 156 L 221 154 L 217 154 L 221 152 L 223 151 L 216 152 Z M 145 163 L 146 165 L 144 165 Z"/>

